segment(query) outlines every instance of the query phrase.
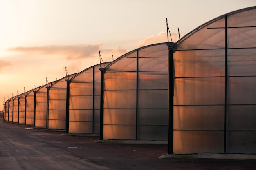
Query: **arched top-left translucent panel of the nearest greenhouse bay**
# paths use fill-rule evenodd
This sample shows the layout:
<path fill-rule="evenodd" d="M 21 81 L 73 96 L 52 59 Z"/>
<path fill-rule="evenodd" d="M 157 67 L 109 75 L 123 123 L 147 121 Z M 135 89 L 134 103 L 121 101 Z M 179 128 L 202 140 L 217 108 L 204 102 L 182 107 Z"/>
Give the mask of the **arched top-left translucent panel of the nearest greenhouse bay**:
<path fill-rule="evenodd" d="M 177 50 L 189 49 L 224 49 L 225 48 L 225 19 L 215 20 L 201 27 L 185 38 Z M 175 55 L 175 53 L 174 53 Z"/>

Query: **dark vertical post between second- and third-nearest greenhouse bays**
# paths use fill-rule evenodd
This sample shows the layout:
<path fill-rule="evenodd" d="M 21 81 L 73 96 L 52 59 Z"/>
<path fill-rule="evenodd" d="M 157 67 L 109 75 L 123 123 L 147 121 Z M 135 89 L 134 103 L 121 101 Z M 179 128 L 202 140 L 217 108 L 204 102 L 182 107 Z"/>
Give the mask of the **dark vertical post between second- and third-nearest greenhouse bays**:
<path fill-rule="evenodd" d="M 103 140 L 103 120 L 104 120 L 104 71 L 105 68 L 99 68 L 101 71 L 101 109 L 100 109 L 100 127 L 99 139 Z"/>

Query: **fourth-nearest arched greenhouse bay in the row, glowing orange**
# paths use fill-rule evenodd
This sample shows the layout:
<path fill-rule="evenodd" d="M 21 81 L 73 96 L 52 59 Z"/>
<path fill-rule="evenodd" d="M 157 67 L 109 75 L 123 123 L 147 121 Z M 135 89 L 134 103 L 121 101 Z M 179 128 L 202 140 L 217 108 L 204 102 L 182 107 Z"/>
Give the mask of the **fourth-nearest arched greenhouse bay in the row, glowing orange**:
<path fill-rule="evenodd" d="M 76 74 L 67 75 L 47 86 L 47 129 L 66 129 L 67 82 Z"/>

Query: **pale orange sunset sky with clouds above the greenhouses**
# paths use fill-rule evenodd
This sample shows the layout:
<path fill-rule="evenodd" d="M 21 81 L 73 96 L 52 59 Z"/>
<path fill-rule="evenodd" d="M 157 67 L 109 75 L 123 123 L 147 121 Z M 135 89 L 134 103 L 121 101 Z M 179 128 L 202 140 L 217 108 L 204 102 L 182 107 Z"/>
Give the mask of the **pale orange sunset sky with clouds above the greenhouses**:
<path fill-rule="evenodd" d="M 255 0 L 0 0 L 0 100 L 148 44 L 173 41 Z M 0 106 L 0 110 L 3 105 Z"/>

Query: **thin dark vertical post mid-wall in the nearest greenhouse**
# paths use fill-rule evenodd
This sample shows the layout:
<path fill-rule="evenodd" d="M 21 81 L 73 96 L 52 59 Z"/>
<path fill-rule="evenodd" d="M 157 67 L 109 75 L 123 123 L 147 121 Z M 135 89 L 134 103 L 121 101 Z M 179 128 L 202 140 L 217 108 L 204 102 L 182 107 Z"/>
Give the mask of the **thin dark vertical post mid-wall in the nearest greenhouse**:
<path fill-rule="evenodd" d="M 224 97 L 224 147 L 223 151 L 226 153 L 227 145 L 227 15 L 225 15 L 225 97 Z"/>

